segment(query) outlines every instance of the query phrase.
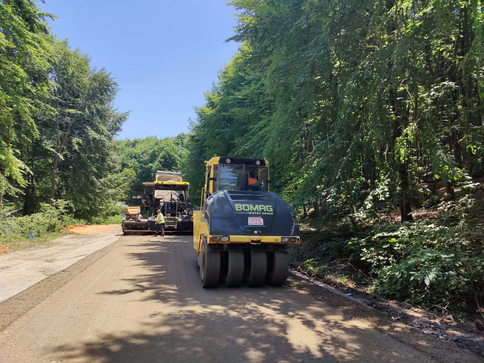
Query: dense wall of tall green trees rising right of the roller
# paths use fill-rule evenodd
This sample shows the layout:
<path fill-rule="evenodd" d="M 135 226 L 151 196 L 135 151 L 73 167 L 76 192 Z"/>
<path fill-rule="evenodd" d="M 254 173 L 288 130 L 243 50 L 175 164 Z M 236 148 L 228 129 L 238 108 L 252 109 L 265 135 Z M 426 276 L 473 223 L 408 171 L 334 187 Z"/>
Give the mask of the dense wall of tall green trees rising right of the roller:
<path fill-rule="evenodd" d="M 484 171 L 479 1 L 232 0 L 239 52 L 197 109 L 190 171 L 212 154 L 267 156 L 301 209 L 393 201 L 402 222 Z M 369 191 L 369 194 L 368 194 Z M 364 193 L 363 193 L 364 192 Z"/>

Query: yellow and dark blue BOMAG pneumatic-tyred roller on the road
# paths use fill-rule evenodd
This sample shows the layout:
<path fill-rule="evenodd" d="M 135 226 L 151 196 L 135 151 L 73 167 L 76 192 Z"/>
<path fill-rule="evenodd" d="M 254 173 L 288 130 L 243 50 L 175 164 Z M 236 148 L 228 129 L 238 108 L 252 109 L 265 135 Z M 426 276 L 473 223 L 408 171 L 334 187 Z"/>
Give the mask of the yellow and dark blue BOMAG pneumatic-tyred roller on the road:
<path fill-rule="evenodd" d="M 289 205 L 270 191 L 269 161 L 214 155 L 206 161 L 193 247 L 203 287 L 280 286 L 287 245 L 300 243 Z"/>

